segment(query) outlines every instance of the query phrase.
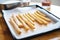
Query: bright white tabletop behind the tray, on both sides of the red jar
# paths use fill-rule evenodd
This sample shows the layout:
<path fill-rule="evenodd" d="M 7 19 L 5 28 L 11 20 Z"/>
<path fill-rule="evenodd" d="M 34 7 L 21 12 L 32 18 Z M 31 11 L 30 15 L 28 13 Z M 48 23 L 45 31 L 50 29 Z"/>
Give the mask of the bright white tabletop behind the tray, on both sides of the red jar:
<path fill-rule="evenodd" d="M 39 5 L 39 6 L 41 6 L 41 3 L 32 2 L 32 3 L 30 3 L 30 5 Z M 60 18 L 60 6 L 51 5 L 50 12 Z"/>

